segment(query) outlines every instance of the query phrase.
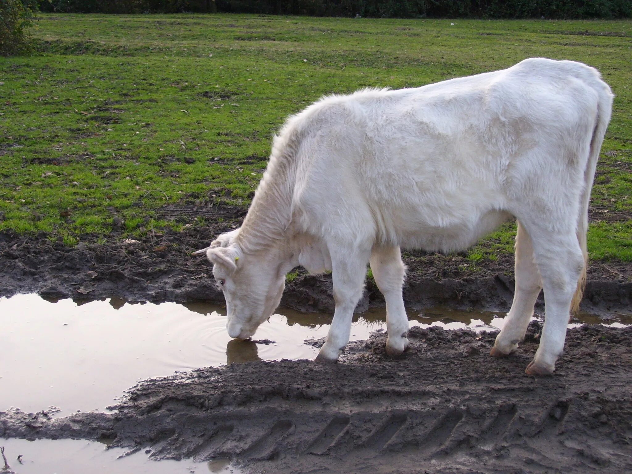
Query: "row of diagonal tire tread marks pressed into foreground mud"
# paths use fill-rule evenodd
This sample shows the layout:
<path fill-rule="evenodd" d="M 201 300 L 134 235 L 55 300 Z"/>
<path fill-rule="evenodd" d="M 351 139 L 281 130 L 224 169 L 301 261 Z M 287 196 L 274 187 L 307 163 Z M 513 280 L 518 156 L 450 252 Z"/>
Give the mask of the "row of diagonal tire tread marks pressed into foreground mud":
<path fill-rule="evenodd" d="M 563 404 L 560 401 L 554 407 L 560 403 Z M 539 472 L 559 468 L 559 463 L 576 451 L 583 453 L 585 458 L 582 468 L 611 465 L 603 451 L 595 448 L 588 451 L 586 446 L 572 447 L 572 442 L 568 443 L 570 440 L 559 432 L 563 420 L 557 419 L 555 408 L 539 412 L 537 404 L 485 408 L 485 413 L 477 415 L 463 408 L 408 413 L 398 410 L 395 413 L 359 412 L 350 416 L 334 415 L 336 410 L 316 415 L 297 410 L 284 413 L 287 419 L 271 426 L 264 422 L 252 423 L 252 420 L 270 420 L 272 408 L 268 407 L 252 411 L 249 419 L 242 418 L 234 430 L 222 434 L 223 439 L 214 437 L 214 446 L 190 451 L 186 457 L 209 461 L 228 456 L 246 465 L 271 463 L 275 471 L 284 472 L 284 469 L 291 471 L 291 465 L 296 463 L 330 470 L 331 463 L 339 462 L 339 459 L 346 463 L 375 459 L 382 459 L 382 462 L 391 459 L 399 463 L 399 458 L 408 458 L 416 459 L 416 462 L 432 461 L 433 466 L 441 466 L 451 464 L 463 453 L 478 459 L 494 459 L 501 466 L 513 468 L 516 466 L 514 461 L 505 465 L 498 458 L 504 453 L 517 452 L 522 453 L 525 465 L 530 466 L 528 472 Z M 325 428 L 314 429 L 313 421 L 325 416 L 331 416 Z M 248 437 L 252 432 L 263 434 L 252 439 Z M 520 437 L 515 436 L 516 432 L 520 432 Z M 182 432 L 178 436 L 187 437 Z M 511 447 L 518 439 L 517 451 L 512 451 Z M 173 457 L 173 441 L 167 440 L 166 445 L 171 446 L 172 453 L 161 449 L 154 451 L 155 457 Z M 227 449 L 227 446 L 231 448 Z M 618 451 L 611 446 L 609 451 L 625 455 L 623 446 Z M 179 458 L 178 454 L 175 457 Z M 628 466 L 632 465 L 628 463 Z M 344 472 L 344 469 L 340 471 Z"/>

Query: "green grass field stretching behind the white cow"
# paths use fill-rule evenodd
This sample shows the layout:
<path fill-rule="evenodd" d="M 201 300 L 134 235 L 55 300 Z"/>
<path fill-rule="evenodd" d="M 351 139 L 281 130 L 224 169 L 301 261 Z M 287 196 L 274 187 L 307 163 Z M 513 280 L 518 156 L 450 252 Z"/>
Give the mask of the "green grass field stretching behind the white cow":
<path fill-rule="evenodd" d="M 632 260 L 632 21 L 41 15 L 42 54 L 0 59 L 0 230 L 68 245 L 248 205 L 284 118 L 332 92 L 418 87 L 545 56 L 616 99 L 593 188 L 593 259 Z M 454 23 L 454 25 L 451 25 Z M 471 250 L 511 252 L 513 225 Z"/>

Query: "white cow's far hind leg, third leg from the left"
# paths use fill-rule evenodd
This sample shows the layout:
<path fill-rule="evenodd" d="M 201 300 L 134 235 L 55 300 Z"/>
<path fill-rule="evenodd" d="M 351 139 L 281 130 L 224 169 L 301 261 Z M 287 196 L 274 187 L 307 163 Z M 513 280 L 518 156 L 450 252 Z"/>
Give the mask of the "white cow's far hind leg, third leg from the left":
<path fill-rule="evenodd" d="M 535 301 L 542 289 L 542 279 L 533 255 L 533 243 L 525 227 L 518 221 L 516 233 L 516 290 L 505 325 L 496 336 L 491 355 L 507 356 L 518 349 L 533 315 Z"/>

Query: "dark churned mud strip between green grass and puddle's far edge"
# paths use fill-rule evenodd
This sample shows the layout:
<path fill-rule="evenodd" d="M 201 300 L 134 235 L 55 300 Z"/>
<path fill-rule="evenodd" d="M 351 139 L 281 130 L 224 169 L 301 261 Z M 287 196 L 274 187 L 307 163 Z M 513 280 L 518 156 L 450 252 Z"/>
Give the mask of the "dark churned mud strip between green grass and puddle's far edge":
<path fill-rule="evenodd" d="M 191 201 L 193 202 L 193 201 Z M 75 247 L 37 236 L 0 233 L 0 296 L 39 293 L 49 299 L 94 300 L 116 296 L 130 301 L 209 301 L 224 298 L 212 281 L 204 258 L 189 253 L 208 245 L 217 234 L 241 224 L 243 207 L 188 204 L 157 210 L 159 217 L 176 219 L 181 232 L 147 234 L 125 243 L 125 222 L 114 217 L 106 243 L 85 235 Z M 204 217 L 205 226 L 196 220 Z M 404 253 L 408 278 L 404 301 L 410 308 L 449 306 L 458 309 L 502 311 L 513 299 L 513 256 L 472 264 L 461 255 Z M 384 304 L 372 281 L 367 282 L 358 312 Z M 300 273 L 288 283 L 284 307 L 332 312 L 331 276 Z M 542 297 L 538 301 L 542 307 Z M 582 308 L 592 313 L 629 312 L 632 305 L 632 264 L 595 263 L 588 270 Z"/>

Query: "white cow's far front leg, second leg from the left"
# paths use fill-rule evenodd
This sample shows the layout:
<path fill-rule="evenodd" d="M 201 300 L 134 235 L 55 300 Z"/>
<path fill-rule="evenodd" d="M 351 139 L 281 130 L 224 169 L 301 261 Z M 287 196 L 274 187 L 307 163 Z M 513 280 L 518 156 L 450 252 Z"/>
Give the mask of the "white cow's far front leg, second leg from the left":
<path fill-rule="evenodd" d="M 408 316 L 401 295 L 406 267 L 398 246 L 375 246 L 370 262 L 375 284 L 386 300 L 386 353 L 400 355 L 408 347 Z"/>

